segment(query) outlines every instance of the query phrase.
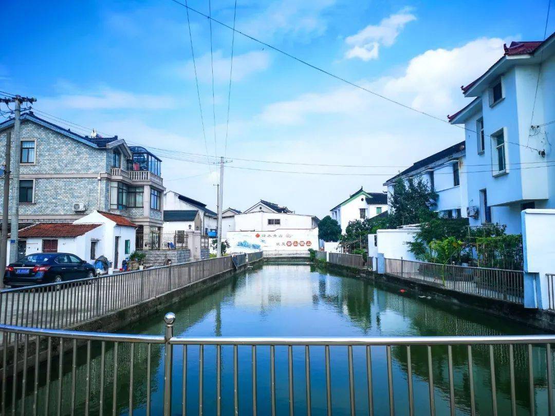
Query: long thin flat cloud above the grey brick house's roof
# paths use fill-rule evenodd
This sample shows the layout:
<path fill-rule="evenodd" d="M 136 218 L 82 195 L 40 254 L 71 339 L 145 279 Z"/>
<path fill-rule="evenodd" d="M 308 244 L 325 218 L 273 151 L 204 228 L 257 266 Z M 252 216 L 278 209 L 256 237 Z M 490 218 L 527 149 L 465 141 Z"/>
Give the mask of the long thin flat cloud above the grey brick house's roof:
<path fill-rule="evenodd" d="M 113 110 L 113 109 L 169 109 L 176 101 L 168 95 L 138 94 L 99 88 L 94 92 L 62 94 L 57 97 L 41 98 L 41 108 L 80 109 L 80 110 Z"/>

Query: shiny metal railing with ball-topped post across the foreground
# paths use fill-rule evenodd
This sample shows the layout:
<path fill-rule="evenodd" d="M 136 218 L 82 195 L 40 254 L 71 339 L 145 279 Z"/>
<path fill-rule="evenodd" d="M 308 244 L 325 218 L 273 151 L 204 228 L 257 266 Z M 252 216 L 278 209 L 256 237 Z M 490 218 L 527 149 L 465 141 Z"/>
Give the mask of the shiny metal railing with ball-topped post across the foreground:
<path fill-rule="evenodd" d="M 175 337 L 164 321 L 163 336 L 0 325 L 2 414 L 553 412 L 555 335 Z"/>

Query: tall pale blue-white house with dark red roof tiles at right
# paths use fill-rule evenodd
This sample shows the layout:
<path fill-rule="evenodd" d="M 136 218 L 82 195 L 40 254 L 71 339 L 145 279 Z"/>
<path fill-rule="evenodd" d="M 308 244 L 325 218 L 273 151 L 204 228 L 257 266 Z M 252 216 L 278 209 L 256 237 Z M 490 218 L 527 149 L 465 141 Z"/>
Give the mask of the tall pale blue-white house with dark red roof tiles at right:
<path fill-rule="evenodd" d="M 555 207 L 555 34 L 504 45 L 462 91 L 474 99 L 448 119 L 466 129 L 470 224 L 520 233 L 522 210 Z"/>

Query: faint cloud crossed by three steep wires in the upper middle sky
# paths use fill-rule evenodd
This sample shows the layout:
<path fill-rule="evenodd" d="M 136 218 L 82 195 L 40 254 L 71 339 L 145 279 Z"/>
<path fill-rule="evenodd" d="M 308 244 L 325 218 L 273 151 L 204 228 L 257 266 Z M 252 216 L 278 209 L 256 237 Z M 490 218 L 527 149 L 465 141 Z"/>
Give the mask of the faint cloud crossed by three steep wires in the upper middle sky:
<path fill-rule="evenodd" d="M 196 72 L 201 82 L 209 83 L 212 80 L 210 53 L 196 58 Z M 214 52 L 214 82 L 229 82 L 229 69 L 231 58 L 223 57 L 221 50 Z M 251 74 L 264 71 L 270 66 L 270 55 L 262 51 L 251 51 L 233 57 L 233 80 L 240 81 Z M 181 77 L 194 78 L 193 60 L 185 64 L 176 64 L 170 68 L 170 72 Z"/>

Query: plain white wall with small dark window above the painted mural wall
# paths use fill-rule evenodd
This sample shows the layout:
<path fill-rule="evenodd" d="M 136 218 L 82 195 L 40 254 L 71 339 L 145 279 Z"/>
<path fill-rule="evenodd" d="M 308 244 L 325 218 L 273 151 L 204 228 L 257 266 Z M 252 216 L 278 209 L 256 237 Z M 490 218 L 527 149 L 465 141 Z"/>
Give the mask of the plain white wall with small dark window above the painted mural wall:
<path fill-rule="evenodd" d="M 269 219 L 279 219 L 281 224 L 269 225 Z M 262 211 L 235 215 L 235 231 L 274 231 L 281 229 L 312 229 L 312 216 Z"/>

